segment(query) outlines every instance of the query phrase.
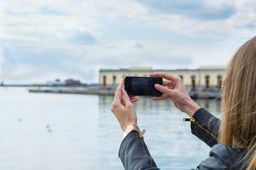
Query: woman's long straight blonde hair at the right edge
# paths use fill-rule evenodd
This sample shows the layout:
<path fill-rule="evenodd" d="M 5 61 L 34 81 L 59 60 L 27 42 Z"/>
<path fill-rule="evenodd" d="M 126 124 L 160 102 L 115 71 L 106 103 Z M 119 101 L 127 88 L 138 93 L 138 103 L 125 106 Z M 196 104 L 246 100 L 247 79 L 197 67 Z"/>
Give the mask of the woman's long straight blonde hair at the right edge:
<path fill-rule="evenodd" d="M 219 143 L 249 147 L 247 170 L 256 168 L 256 36 L 242 45 L 226 70 Z"/>

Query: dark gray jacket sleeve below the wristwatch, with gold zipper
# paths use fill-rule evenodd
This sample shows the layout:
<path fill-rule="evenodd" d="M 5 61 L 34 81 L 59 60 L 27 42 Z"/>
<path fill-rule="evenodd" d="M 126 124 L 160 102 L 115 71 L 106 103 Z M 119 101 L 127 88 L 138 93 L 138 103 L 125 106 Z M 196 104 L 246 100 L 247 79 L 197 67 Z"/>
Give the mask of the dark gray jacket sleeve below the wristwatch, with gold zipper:
<path fill-rule="evenodd" d="M 160 170 L 152 159 L 147 145 L 138 132 L 130 132 L 121 143 L 118 156 L 126 170 Z"/>

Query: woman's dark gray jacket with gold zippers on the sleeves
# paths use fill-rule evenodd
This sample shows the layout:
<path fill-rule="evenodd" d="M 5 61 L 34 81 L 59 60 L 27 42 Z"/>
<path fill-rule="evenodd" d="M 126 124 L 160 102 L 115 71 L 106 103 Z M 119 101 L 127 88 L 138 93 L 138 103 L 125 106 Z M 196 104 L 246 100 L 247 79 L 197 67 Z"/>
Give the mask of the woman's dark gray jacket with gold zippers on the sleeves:
<path fill-rule="evenodd" d="M 196 169 L 241 169 L 245 148 L 231 148 L 217 144 L 220 120 L 200 108 L 191 119 L 191 132 L 211 148 L 209 157 Z M 119 157 L 126 170 L 159 169 L 152 159 L 143 137 L 138 132 L 130 132 L 121 143 Z"/>

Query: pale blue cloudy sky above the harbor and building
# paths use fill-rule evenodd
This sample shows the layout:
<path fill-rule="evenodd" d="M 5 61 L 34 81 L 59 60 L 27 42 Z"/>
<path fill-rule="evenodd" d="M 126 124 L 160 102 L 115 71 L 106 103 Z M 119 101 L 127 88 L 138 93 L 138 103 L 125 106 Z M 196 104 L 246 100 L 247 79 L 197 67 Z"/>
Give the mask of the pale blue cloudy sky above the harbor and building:
<path fill-rule="evenodd" d="M 0 81 L 99 83 L 99 69 L 226 65 L 255 0 L 0 0 Z"/>

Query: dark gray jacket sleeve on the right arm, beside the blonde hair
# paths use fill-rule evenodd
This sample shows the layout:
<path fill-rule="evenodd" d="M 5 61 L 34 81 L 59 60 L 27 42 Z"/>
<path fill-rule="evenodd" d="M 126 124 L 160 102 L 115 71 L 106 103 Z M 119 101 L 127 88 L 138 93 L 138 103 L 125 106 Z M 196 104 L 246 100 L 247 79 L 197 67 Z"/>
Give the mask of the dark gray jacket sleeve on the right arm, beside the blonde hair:
<path fill-rule="evenodd" d="M 204 108 L 200 108 L 194 113 L 191 120 L 191 132 L 209 147 L 213 147 L 218 142 L 218 129 L 221 120 L 208 113 Z"/>

